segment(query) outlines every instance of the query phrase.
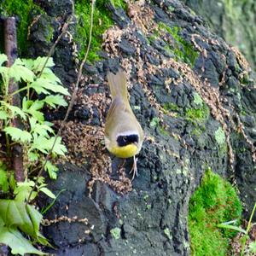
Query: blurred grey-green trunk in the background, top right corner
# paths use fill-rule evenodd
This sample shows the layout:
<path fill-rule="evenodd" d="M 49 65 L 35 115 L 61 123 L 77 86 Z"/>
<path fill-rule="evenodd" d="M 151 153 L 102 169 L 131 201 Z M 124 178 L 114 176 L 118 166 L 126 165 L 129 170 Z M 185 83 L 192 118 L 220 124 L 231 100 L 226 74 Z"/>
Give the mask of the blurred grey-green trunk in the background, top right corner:
<path fill-rule="evenodd" d="M 197 15 L 204 17 L 219 36 L 236 45 L 255 70 L 256 28 L 249 26 L 255 20 L 254 0 L 218 1 L 218 3 L 207 0 L 183 0 L 183 3 L 193 9 Z"/>

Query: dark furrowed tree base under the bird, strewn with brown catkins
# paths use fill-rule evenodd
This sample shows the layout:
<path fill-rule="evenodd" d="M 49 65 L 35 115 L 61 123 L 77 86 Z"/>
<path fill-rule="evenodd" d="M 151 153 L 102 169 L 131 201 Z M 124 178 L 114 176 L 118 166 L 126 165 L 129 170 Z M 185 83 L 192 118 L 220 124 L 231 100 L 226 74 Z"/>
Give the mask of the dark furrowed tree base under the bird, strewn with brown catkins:
<path fill-rule="evenodd" d="M 51 1 L 49 7 L 48 1 L 38 2 L 49 12 L 49 17 L 43 16 L 38 24 L 45 20 L 57 22 L 52 11 L 56 7 L 59 15 L 71 12 L 70 4 Z M 106 73 L 115 72 L 120 66 L 125 68 L 132 84 L 131 106 L 147 137 L 138 155 L 138 177 L 131 192 L 122 190 L 123 194 L 119 194 L 109 182 L 122 183 L 116 170 L 119 162 L 114 158 L 113 172 L 108 173 L 107 181 L 91 171 L 91 155 L 81 168 L 62 166 L 57 181 L 50 182 L 49 188 L 55 194 L 66 190 L 46 218 L 77 216 L 87 218 L 88 223 L 60 221 L 45 227 L 44 236 L 55 246 L 50 253 L 189 255 L 189 198 L 207 167 L 233 178 L 247 207 L 251 208 L 256 200 L 251 189 L 256 181 L 254 149 L 250 144 L 256 142 L 256 91 L 246 63 L 221 38 L 209 32 L 201 18 L 191 15 L 183 3 L 151 2 L 131 4 L 125 18 L 120 9 L 108 5 L 119 27 L 105 35 L 102 61 L 84 66 L 84 80 L 70 116 L 77 124 L 101 130 L 110 102 Z M 160 29 L 160 22 L 169 29 L 164 25 Z M 75 23 L 70 27 L 71 33 L 74 26 Z M 173 32 L 175 27 L 177 32 Z M 155 31 L 157 36 L 150 37 Z M 39 26 L 31 32 L 30 39 L 36 42 L 30 49 L 32 55 L 47 52 L 49 44 L 38 39 L 44 38 L 44 32 L 40 34 Z M 54 38 L 56 34 L 55 31 Z M 54 59 L 55 72 L 64 84 L 72 87 L 76 64 L 72 38 L 69 39 L 61 39 Z M 198 52 L 195 63 L 189 59 L 192 51 Z M 223 109 L 230 110 L 229 116 L 224 115 Z M 237 117 L 246 137 L 237 131 Z M 62 114 L 54 118 L 61 119 Z M 220 127 L 225 129 L 230 145 L 217 137 Z M 79 142 L 74 143 L 76 148 Z M 233 162 L 232 154 L 228 154 L 231 149 Z M 85 153 L 86 150 L 90 148 L 84 148 Z M 125 176 L 131 177 L 131 160 L 126 160 L 125 170 Z"/>

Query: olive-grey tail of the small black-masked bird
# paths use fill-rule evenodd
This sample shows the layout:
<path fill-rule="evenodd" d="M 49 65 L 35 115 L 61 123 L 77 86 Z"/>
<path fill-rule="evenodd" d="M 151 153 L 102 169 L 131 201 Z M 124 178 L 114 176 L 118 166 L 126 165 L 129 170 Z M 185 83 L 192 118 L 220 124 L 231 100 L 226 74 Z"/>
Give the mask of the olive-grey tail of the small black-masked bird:
<path fill-rule="evenodd" d="M 112 99 L 121 97 L 124 101 L 128 101 L 127 82 L 125 72 L 119 69 L 118 73 L 108 73 L 108 84 Z"/>

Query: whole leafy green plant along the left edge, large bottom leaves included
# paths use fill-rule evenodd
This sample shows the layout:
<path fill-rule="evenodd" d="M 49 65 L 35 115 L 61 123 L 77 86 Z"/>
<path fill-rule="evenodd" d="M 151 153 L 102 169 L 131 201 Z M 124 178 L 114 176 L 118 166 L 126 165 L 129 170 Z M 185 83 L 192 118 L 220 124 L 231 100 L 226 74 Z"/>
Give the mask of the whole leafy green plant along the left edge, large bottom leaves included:
<path fill-rule="evenodd" d="M 52 58 L 17 59 L 11 67 L 3 67 L 5 61 L 7 56 L 0 55 L 0 126 L 3 133 L 3 160 L 0 161 L 0 195 L 3 198 L 0 199 L 0 243 L 11 247 L 14 254 L 43 255 L 44 253 L 32 246 L 34 243 L 49 246 L 46 238 L 39 233 L 42 215 L 28 204 L 28 198 L 33 201 L 42 192 L 55 200 L 55 195 L 47 188 L 44 177 L 38 177 L 36 181 L 37 178 L 32 174 L 44 166 L 49 177 L 57 177 L 58 167 L 53 160 L 64 156 L 67 148 L 61 143 L 61 137 L 55 140 L 53 124 L 44 119 L 43 108 L 66 107 L 64 96 L 69 93 L 50 69 L 54 66 Z M 12 80 L 22 86 L 9 94 L 9 83 Z M 12 97 L 18 93 L 23 95 L 20 108 L 12 105 Z M 38 99 L 34 99 L 35 94 L 38 94 Z M 22 120 L 22 127 L 14 126 L 13 119 Z M 15 182 L 14 172 L 8 167 L 11 145 L 15 143 L 19 143 L 23 149 L 25 181 L 19 183 Z M 44 165 L 48 154 L 50 160 Z M 29 236 L 30 240 L 22 234 Z"/>

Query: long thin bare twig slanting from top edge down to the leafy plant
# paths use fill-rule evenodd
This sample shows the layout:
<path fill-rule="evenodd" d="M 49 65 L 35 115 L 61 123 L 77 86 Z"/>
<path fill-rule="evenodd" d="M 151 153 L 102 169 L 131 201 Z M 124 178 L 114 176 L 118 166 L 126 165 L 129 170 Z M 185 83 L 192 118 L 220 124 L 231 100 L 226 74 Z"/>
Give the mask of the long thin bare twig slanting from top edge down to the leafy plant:
<path fill-rule="evenodd" d="M 44 167 L 46 166 L 47 164 L 47 161 L 49 160 L 50 158 L 50 154 L 52 153 L 54 147 L 55 147 L 55 143 L 57 141 L 57 138 L 61 135 L 61 131 L 63 130 L 64 126 L 66 125 L 67 123 L 67 118 L 69 116 L 69 113 L 71 112 L 72 108 L 73 108 L 73 104 L 74 104 L 74 101 L 76 99 L 76 96 L 77 96 L 77 91 L 79 90 L 79 82 L 80 82 L 80 79 L 82 77 L 82 70 L 83 70 L 83 67 L 84 67 L 84 63 L 85 61 L 87 60 L 87 57 L 88 57 L 88 54 L 89 54 L 89 50 L 90 50 L 90 43 L 91 43 L 91 38 L 92 38 L 92 27 L 93 27 L 93 15 L 94 15 L 94 4 L 95 4 L 95 0 L 91 0 L 91 13 L 90 13 L 90 35 L 89 35 L 89 41 L 88 41 L 88 45 L 87 45 L 87 49 L 86 49 L 86 53 L 84 55 L 84 59 L 83 61 L 81 62 L 80 64 L 80 67 L 79 67 L 79 73 L 78 73 L 78 79 L 77 79 L 77 82 L 75 84 L 75 87 L 74 87 L 74 90 L 73 90 L 73 94 L 72 94 L 72 97 L 71 97 L 71 100 L 69 102 L 69 105 L 68 105 L 68 108 L 67 108 L 67 113 L 64 117 L 64 119 L 62 120 L 61 122 L 61 126 L 60 126 L 60 129 L 58 130 L 56 136 L 55 136 L 55 141 L 52 145 L 52 147 L 50 148 L 49 150 L 49 153 L 46 155 L 46 158 L 44 160 L 44 165 L 42 166 L 42 168 L 40 169 L 40 171 L 38 172 L 38 177 L 35 181 L 35 184 L 30 192 L 30 194 L 28 195 L 28 198 L 27 198 L 27 201 L 26 201 L 26 204 L 30 201 L 30 198 L 31 198 L 31 195 L 32 195 L 32 191 L 36 188 L 36 186 L 38 185 L 38 178 L 41 176 L 42 172 L 44 171 Z"/>

